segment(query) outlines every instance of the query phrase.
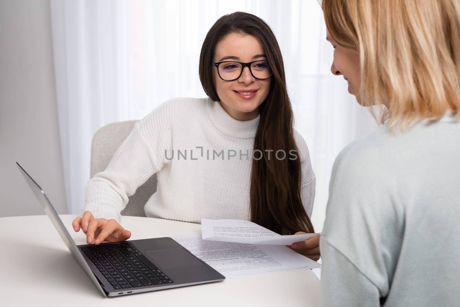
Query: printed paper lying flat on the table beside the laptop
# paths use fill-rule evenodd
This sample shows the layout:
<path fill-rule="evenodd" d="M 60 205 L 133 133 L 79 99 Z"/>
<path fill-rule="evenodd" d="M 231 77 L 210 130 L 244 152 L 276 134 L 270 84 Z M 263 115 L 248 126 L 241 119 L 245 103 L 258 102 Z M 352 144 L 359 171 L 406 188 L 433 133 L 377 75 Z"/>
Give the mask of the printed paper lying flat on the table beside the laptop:
<path fill-rule="evenodd" d="M 318 262 L 283 245 L 206 241 L 200 236 L 181 236 L 173 239 L 226 278 L 321 267 Z"/>

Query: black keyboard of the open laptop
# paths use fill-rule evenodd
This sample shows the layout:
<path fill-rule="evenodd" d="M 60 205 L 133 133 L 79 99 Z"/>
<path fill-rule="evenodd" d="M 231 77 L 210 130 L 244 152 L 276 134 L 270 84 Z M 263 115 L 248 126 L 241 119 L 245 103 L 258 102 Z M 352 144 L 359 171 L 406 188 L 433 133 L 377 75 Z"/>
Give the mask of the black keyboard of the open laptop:
<path fill-rule="evenodd" d="M 132 243 L 92 245 L 81 249 L 115 289 L 173 283 Z"/>

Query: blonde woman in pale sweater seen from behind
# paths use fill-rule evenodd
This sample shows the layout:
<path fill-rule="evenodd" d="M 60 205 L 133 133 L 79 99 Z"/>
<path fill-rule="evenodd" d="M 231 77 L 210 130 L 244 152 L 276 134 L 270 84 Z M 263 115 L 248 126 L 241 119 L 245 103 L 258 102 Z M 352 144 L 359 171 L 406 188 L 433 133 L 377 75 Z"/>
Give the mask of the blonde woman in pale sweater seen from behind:
<path fill-rule="evenodd" d="M 361 105 L 383 111 L 375 113 L 383 125 L 347 146 L 333 168 L 322 306 L 459 306 L 458 2 L 322 7 L 332 73 Z"/>

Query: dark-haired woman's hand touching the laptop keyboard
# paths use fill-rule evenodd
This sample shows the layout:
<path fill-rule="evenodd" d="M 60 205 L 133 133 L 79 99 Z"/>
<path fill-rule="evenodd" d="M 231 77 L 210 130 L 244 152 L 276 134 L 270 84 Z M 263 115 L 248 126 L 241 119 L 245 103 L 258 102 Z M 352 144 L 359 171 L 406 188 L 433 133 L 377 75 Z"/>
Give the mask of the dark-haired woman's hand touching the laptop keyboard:
<path fill-rule="evenodd" d="M 125 241 L 131 237 L 131 232 L 123 228 L 114 219 L 96 219 L 90 211 L 85 211 L 82 217 L 77 217 L 72 222 L 72 227 L 75 232 L 79 232 L 80 228 L 86 234 L 86 242 L 98 245 L 104 240 L 109 242 Z"/>

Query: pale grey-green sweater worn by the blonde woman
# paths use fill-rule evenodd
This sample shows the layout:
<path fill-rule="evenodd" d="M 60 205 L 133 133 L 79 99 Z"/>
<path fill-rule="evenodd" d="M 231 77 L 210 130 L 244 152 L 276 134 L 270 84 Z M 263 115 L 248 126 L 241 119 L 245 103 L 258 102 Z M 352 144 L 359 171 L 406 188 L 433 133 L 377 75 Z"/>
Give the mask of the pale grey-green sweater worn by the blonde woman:
<path fill-rule="evenodd" d="M 386 125 L 335 161 L 322 306 L 460 306 L 460 123 Z"/>

